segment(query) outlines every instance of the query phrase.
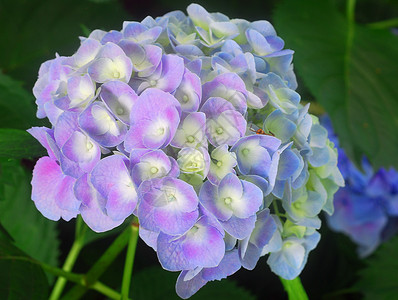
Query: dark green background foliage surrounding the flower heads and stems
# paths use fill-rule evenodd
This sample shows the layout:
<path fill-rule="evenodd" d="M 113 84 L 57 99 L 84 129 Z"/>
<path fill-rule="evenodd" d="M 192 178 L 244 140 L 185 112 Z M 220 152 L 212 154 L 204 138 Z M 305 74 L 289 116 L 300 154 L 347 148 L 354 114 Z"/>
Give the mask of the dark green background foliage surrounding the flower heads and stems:
<path fill-rule="evenodd" d="M 366 155 L 375 167 L 398 168 L 398 35 L 375 23 L 396 18 L 397 1 L 357 1 L 355 14 L 350 9 L 347 13 L 347 4 L 350 8 L 353 1 L 343 0 L 197 2 L 231 18 L 271 21 L 286 47 L 295 50 L 303 100 L 329 113 L 346 152 L 356 161 Z M 120 29 L 124 20 L 184 10 L 188 4 L 184 0 L 0 0 L 0 270 L 10 270 L 0 272 L 0 299 L 46 299 L 52 278 L 35 260 L 59 266 L 73 239 L 73 221 L 48 221 L 30 200 L 31 171 L 35 159 L 45 154 L 25 132 L 45 125 L 35 117 L 31 93 L 40 64 L 55 52 L 71 55 L 78 47 L 77 37 L 95 28 Z M 86 272 L 117 231 L 88 233 L 74 271 Z M 362 295 L 393 299 L 398 295 L 397 253 L 395 238 L 361 262 L 346 237 L 324 226 L 302 282 L 310 299 L 361 299 Z M 101 280 L 119 289 L 123 262 L 120 255 Z M 159 291 L 170 299 L 174 296 L 175 274 L 162 271 L 153 251 L 142 242 L 133 278 L 134 299 L 161 299 L 164 294 Z M 254 271 L 241 270 L 229 281 L 213 283 L 195 297 L 287 297 L 265 262 L 260 261 Z M 86 299 L 102 298 L 90 292 Z"/>

